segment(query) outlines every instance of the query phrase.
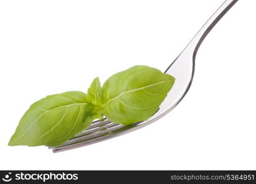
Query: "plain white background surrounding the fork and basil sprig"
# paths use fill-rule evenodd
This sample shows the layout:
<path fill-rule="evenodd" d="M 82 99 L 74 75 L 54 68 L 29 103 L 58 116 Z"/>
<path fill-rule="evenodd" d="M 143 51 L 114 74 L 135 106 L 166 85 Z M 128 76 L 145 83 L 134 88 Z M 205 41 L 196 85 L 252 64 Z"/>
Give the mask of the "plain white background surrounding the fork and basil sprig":
<path fill-rule="evenodd" d="M 206 37 L 192 87 L 166 117 L 53 154 L 8 147 L 48 94 L 87 90 L 136 64 L 164 71 L 223 0 L 0 2 L 0 169 L 256 169 L 255 0 Z"/>

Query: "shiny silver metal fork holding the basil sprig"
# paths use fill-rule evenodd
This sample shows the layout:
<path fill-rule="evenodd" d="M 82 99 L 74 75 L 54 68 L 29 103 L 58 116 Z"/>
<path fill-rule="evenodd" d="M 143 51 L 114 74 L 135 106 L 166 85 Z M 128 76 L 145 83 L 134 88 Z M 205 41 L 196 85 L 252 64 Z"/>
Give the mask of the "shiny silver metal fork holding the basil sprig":
<path fill-rule="evenodd" d="M 53 149 L 53 153 L 94 144 L 102 140 L 134 131 L 159 120 L 161 117 L 173 110 L 174 107 L 176 107 L 176 105 L 184 98 L 185 94 L 187 94 L 187 91 L 192 84 L 193 74 L 195 71 L 195 58 L 198 48 L 211 29 L 237 1 L 238 0 L 226 0 L 223 2 L 219 9 L 217 9 L 211 18 L 206 21 L 200 31 L 198 31 L 195 37 L 193 37 L 193 39 L 188 43 L 180 55 L 177 56 L 173 63 L 171 63 L 171 65 L 166 69 L 165 73 L 173 75 L 176 78 L 176 82 L 172 90 L 169 91 L 165 101 L 160 105 L 158 111 L 150 117 L 149 120 L 128 126 L 112 123 L 106 118 L 103 120 L 93 121 L 89 128 L 77 134 L 72 139 L 69 139 L 63 145 L 58 147 L 49 147 Z"/>

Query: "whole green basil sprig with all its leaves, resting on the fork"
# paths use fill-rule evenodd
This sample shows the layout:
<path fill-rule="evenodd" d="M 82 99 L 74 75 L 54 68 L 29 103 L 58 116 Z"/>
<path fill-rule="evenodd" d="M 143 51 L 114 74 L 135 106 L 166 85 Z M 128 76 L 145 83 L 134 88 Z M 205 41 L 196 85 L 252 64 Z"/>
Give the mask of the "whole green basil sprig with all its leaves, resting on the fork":
<path fill-rule="evenodd" d="M 112 75 L 101 88 L 96 77 L 88 94 L 69 91 L 32 104 L 23 115 L 9 145 L 63 144 L 103 114 L 114 123 L 130 125 L 156 112 L 174 84 L 158 69 L 134 66 Z"/>

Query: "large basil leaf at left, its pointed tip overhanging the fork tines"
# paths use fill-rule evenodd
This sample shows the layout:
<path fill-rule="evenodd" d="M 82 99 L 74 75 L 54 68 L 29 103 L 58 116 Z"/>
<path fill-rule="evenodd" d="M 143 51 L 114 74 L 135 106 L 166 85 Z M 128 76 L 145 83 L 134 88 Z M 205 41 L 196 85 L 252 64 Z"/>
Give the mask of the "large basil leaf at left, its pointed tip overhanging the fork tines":
<path fill-rule="evenodd" d="M 9 145 L 63 144 L 99 117 L 87 95 L 69 91 L 47 96 L 32 104 L 23 115 Z"/>

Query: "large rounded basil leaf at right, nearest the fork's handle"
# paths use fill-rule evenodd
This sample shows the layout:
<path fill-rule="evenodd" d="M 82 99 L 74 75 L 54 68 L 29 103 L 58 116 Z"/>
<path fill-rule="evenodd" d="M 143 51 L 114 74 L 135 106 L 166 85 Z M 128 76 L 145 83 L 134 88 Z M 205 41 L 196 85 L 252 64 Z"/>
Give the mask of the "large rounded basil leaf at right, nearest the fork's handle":
<path fill-rule="evenodd" d="M 158 69 L 134 66 L 112 75 L 103 85 L 103 111 L 112 122 L 130 125 L 150 118 L 174 84 Z"/>

